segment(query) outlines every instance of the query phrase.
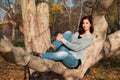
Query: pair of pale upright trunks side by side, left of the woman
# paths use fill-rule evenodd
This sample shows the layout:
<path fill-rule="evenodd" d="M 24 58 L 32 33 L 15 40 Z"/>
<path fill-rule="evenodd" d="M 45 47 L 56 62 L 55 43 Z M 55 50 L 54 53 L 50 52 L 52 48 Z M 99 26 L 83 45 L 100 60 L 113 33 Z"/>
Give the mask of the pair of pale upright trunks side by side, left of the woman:
<path fill-rule="evenodd" d="M 21 0 L 25 49 L 45 52 L 50 47 L 49 10 L 45 2 L 35 4 L 35 0 Z"/>

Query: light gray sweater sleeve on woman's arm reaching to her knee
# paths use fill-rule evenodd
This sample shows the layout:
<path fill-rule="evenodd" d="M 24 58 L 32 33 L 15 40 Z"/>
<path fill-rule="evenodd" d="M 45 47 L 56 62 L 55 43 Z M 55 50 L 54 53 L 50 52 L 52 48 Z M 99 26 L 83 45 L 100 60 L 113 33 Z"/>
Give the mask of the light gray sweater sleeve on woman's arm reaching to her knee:
<path fill-rule="evenodd" d="M 92 40 L 93 40 L 93 36 L 89 36 L 83 39 L 82 43 L 71 43 L 67 40 L 64 40 L 63 44 L 73 51 L 80 51 L 84 48 L 87 48 L 91 44 Z"/>

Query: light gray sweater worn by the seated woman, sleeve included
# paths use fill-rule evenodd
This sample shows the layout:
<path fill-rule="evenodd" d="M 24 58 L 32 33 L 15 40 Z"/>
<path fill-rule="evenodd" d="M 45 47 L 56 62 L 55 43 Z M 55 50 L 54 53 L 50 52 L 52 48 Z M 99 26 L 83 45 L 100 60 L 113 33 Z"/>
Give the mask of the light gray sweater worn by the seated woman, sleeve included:
<path fill-rule="evenodd" d="M 76 59 L 81 59 L 81 64 L 83 64 L 84 57 L 86 54 L 86 49 L 93 41 L 93 35 L 89 34 L 80 39 L 78 39 L 78 36 L 79 33 L 76 32 L 75 34 L 72 35 L 71 42 L 65 40 L 63 44 L 66 45 L 68 48 L 70 48 L 71 51 L 69 51 L 69 53 L 72 54 Z"/>

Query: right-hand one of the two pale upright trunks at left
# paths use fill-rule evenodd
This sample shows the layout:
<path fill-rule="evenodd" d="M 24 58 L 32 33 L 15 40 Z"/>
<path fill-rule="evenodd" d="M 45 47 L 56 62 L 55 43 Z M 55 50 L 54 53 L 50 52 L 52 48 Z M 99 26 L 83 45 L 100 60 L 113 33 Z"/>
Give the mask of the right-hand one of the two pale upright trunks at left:
<path fill-rule="evenodd" d="M 46 52 L 51 45 L 50 28 L 49 28 L 49 6 L 46 2 L 37 5 L 37 25 L 39 30 L 39 40 L 36 46 L 39 45 L 40 53 Z M 38 32 L 36 32 L 38 33 Z"/>

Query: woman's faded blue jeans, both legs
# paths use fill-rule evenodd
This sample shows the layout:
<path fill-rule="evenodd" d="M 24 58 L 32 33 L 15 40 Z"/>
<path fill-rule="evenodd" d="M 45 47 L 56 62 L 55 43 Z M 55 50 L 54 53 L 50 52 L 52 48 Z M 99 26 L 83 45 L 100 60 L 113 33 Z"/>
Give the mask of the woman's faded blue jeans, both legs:
<path fill-rule="evenodd" d="M 71 42 L 72 40 L 72 33 L 70 31 L 66 31 L 63 33 L 63 37 Z M 78 66 L 78 59 L 73 57 L 68 51 L 70 50 L 67 48 L 62 42 L 54 41 L 53 44 L 58 49 L 57 52 L 46 52 L 42 54 L 42 58 L 51 59 L 55 61 L 61 61 L 63 64 L 69 68 L 75 68 Z"/>

